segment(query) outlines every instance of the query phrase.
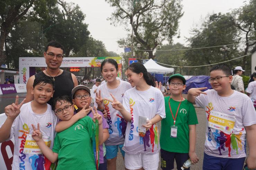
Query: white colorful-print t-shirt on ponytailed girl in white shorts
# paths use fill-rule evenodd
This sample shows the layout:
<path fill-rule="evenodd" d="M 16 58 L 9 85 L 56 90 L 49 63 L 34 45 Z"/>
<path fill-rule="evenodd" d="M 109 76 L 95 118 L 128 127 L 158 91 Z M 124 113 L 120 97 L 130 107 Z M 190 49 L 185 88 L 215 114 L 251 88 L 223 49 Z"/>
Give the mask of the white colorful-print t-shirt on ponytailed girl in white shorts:
<path fill-rule="evenodd" d="M 124 94 L 123 105 L 131 113 L 131 122 L 127 123 L 126 138 L 123 150 L 128 154 L 144 153 L 155 154 L 160 150 L 159 133 L 157 124 L 146 131 L 145 136 L 139 136 L 139 116 L 147 117 L 149 120 L 159 114 L 165 118 L 165 104 L 163 93 L 150 87 L 145 91 L 138 91 L 135 87 L 127 90 Z"/>

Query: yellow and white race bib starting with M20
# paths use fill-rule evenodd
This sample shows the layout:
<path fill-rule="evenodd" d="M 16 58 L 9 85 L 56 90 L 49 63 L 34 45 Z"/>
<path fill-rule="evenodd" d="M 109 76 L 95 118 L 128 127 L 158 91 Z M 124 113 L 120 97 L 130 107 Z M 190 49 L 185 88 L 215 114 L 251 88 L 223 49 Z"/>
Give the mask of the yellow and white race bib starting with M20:
<path fill-rule="evenodd" d="M 50 137 L 43 136 L 45 144 L 50 147 L 51 139 Z M 41 149 L 38 147 L 36 141 L 32 138 L 32 134 L 27 134 L 24 151 L 23 153 L 27 154 L 43 154 Z"/>

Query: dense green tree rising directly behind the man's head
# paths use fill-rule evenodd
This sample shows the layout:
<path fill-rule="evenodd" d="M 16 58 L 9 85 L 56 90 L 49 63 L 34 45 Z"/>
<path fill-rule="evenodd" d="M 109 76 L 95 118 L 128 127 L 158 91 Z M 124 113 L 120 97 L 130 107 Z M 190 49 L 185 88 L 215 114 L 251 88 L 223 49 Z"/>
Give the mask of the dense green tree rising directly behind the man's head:
<path fill-rule="evenodd" d="M 84 22 L 85 14 L 78 5 L 57 1 L 59 6 L 50 12 L 51 20 L 46 23 L 45 28 L 59 22 L 60 24 L 49 28 L 46 32 L 48 41 L 56 40 L 64 46 L 65 57 L 71 52 L 79 52 L 83 44 L 89 39 L 88 25 Z"/>

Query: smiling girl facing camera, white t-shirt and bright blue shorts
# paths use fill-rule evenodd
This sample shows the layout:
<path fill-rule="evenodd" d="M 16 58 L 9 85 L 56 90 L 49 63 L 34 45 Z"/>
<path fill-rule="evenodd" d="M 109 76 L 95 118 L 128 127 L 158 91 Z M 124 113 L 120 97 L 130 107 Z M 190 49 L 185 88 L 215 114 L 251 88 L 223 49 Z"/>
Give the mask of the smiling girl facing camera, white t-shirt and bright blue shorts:
<path fill-rule="evenodd" d="M 101 74 L 106 80 L 106 83 L 101 84 L 97 89 L 95 102 L 98 104 L 98 109 L 107 112 L 107 122 L 109 125 L 109 138 L 105 141 L 106 159 L 108 169 L 116 169 L 116 159 L 118 148 L 122 156 L 125 152 L 122 150 L 125 142 L 125 130 L 127 121 L 122 117 L 122 114 L 112 108 L 111 103 L 104 98 L 111 98 L 110 93 L 122 103 L 124 93 L 131 88 L 131 84 L 118 80 L 118 64 L 113 59 L 106 59 L 101 63 Z"/>

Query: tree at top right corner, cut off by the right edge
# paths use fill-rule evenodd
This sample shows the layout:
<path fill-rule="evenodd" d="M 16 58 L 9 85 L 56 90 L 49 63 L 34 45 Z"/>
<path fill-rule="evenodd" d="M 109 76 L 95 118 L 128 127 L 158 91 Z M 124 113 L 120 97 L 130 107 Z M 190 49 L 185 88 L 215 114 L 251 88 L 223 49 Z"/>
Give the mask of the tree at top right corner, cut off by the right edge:
<path fill-rule="evenodd" d="M 232 12 L 233 24 L 239 30 L 242 36 L 245 38 L 245 48 L 244 55 L 248 53 L 249 50 L 253 49 L 256 44 L 256 1 L 250 0 L 249 4 L 235 9 Z M 247 57 L 243 58 L 242 67 L 245 68 Z"/>

